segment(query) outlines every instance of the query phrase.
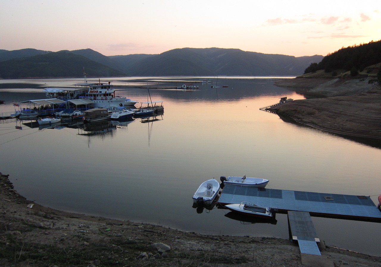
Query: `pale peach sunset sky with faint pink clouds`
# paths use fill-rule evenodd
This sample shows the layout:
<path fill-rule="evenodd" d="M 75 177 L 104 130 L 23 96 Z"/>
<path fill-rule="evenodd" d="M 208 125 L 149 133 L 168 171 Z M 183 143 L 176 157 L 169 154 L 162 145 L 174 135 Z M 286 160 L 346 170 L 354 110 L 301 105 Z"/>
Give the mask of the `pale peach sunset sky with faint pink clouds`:
<path fill-rule="evenodd" d="M 299 57 L 381 40 L 381 0 L 1 0 L 0 10 L 5 50 L 217 47 Z"/>

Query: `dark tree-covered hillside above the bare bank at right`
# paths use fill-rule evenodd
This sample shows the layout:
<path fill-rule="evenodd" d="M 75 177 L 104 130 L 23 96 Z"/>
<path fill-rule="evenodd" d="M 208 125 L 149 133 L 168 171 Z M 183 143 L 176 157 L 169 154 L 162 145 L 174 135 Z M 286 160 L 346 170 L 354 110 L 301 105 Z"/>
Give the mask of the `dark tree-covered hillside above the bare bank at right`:
<path fill-rule="evenodd" d="M 379 62 L 381 62 L 381 40 L 341 48 L 323 57 L 319 63 L 314 62 L 309 65 L 304 73 L 318 70 L 331 72 L 338 69 L 362 72 L 365 67 Z"/>

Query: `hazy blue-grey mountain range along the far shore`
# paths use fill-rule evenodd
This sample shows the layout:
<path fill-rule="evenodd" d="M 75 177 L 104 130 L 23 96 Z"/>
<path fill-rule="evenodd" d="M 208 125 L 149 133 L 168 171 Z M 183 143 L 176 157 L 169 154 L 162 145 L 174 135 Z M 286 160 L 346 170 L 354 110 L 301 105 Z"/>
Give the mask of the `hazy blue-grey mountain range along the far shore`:
<path fill-rule="evenodd" d="M 294 57 L 225 48 L 178 48 L 161 54 L 104 56 L 92 49 L 1 50 L 0 78 L 123 76 L 297 76 L 323 56 Z"/>

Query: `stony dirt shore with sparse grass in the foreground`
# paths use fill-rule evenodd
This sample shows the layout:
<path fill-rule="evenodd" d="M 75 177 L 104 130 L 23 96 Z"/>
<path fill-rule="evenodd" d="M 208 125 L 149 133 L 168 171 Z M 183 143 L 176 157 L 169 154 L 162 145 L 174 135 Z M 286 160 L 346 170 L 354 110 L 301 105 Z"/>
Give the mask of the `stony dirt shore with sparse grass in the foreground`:
<path fill-rule="evenodd" d="M 1 173 L 0 214 L 0 266 L 381 266 L 381 257 L 323 242 L 322 256 L 314 256 L 279 238 L 202 235 L 53 210 L 20 196 Z"/>

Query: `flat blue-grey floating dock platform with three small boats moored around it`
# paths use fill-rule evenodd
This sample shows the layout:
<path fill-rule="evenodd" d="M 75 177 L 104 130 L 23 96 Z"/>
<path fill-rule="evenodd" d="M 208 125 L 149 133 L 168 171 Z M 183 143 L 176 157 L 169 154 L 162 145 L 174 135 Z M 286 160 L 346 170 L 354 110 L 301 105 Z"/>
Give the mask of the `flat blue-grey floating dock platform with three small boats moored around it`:
<path fill-rule="evenodd" d="M 243 201 L 258 206 L 278 208 L 280 213 L 306 211 L 312 216 L 381 222 L 381 212 L 370 197 L 364 195 L 340 195 L 225 184 L 219 204 L 239 204 Z"/>

